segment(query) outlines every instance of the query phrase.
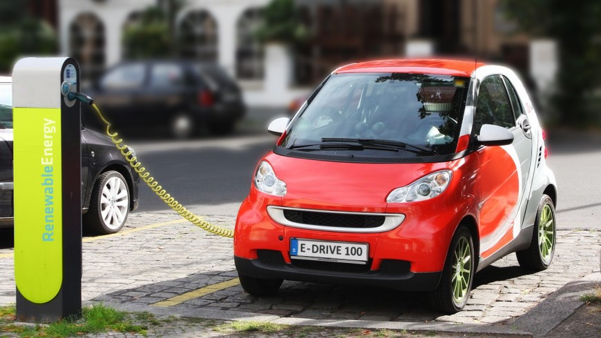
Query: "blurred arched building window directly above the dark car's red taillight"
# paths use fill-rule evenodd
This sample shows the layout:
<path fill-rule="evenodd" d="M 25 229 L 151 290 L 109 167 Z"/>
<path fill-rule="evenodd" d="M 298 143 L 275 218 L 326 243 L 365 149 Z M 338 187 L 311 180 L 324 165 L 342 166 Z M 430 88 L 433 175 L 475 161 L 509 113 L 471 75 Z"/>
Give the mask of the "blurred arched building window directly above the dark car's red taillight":
<path fill-rule="evenodd" d="M 179 28 L 182 57 L 217 62 L 217 21 L 209 12 L 189 12 L 180 22 Z"/>

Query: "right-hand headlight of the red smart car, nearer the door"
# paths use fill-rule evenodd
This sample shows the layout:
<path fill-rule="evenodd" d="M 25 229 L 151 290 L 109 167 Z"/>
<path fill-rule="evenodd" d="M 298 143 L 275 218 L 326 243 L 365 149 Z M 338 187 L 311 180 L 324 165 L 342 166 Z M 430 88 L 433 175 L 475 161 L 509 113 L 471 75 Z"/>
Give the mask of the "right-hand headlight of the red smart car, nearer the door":
<path fill-rule="evenodd" d="M 403 203 L 412 201 L 423 201 L 440 195 L 447 187 L 452 172 L 441 170 L 414 181 L 408 186 L 392 190 L 386 201 L 388 203 Z"/>

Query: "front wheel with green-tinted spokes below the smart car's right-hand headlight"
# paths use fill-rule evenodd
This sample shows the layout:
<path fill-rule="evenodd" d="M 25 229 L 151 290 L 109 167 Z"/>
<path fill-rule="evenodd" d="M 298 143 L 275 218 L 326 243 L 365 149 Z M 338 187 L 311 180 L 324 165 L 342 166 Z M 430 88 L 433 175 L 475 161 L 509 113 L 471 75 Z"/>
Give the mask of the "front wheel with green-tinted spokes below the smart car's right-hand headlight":
<path fill-rule="evenodd" d="M 460 270 L 457 261 L 463 264 Z M 440 284 L 430 293 L 430 302 L 436 310 L 453 314 L 466 306 L 474 280 L 474 261 L 472 234 L 460 225 L 450 243 Z"/>

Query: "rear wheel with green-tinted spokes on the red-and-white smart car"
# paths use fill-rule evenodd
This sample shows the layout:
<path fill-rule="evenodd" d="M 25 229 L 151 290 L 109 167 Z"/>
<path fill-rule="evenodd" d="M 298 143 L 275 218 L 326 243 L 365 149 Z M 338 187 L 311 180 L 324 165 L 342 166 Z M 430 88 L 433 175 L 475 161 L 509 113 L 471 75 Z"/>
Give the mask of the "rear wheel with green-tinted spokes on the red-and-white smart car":
<path fill-rule="evenodd" d="M 530 246 L 515 252 L 519 266 L 534 271 L 546 270 L 553 261 L 556 239 L 553 200 L 547 195 L 542 195 L 536 212 Z"/>

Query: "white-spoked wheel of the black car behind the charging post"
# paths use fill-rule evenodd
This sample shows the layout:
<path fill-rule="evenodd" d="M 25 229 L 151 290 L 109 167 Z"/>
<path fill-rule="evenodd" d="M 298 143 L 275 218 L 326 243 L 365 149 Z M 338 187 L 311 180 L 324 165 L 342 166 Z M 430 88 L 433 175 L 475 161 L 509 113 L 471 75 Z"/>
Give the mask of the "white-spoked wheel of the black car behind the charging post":
<path fill-rule="evenodd" d="M 129 188 L 114 170 L 104 172 L 94 184 L 90 208 L 83 221 L 88 230 L 99 234 L 119 232 L 129 213 Z"/>

